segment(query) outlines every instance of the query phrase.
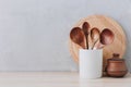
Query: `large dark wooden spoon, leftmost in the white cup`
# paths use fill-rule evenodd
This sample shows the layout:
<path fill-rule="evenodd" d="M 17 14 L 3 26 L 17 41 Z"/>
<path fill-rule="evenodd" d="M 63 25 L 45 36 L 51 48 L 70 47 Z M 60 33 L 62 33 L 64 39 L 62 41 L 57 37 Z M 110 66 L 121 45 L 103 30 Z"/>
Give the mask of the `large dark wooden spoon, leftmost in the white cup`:
<path fill-rule="evenodd" d="M 83 30 L 80 27 L 72 28 L 70 32 L 70 38 L 73 42 L 85 49 L 85 37 Z"/>

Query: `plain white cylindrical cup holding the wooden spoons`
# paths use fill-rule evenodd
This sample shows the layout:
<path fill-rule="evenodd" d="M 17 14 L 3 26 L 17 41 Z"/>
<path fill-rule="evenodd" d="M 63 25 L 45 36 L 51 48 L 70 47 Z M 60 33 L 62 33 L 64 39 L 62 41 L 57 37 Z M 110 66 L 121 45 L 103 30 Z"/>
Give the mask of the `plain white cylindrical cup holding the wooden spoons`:
<path fill-rule="evenodd" d="M 80 78 L 99 78 L 103 74 L 103 50 L 80 49 Z"/>

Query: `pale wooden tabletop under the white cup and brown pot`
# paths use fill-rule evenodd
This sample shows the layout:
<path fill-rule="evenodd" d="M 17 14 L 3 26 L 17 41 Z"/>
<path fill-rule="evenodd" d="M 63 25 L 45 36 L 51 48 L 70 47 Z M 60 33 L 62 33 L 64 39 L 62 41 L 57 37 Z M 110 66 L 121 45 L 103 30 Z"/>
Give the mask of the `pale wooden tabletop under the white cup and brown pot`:
<path fill-rule="evenodd" d="M 3 72 L 0 87 L 131 87 L 131 76 L 80 79 L 78 72 Z"/>

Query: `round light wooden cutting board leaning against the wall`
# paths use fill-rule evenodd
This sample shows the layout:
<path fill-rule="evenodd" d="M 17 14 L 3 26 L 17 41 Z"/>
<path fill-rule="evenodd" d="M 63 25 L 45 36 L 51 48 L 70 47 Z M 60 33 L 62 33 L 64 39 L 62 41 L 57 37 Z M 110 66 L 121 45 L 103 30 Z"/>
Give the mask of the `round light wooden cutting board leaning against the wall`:
<path fill-rule="evenodd" d="M 104 52 L 104 62 L 103 62 L 103 69 L 105 70 L 105 66 L 107 65 L 107 59 L 112 58 L 112 53 L 119 53 L 120 58 L 123 57 L 126 51 L 126 35 L 123 33 L 122 27 L 112 18 L 104 16 L 104 15 L 91 15 L 88 17 L 85 17 L 81 20 L 79 23 L 76 23 L 73 27 L 82 27 L 82 24 L 84 22 L 88 22 L 91 25 L 90 30 L 93 27 L 99 28 L 102 32 L 104 28 L 109 28 L 115 34 L 115 40 L 111 45 L 105 46 L 103 49 Z M 90 39 L 90 46 L 91 38 Z M 69 39 L 69 48 L 72 58 L 76 63 L 79 63 L 79 49 L 82 49 L 79 45 L 74 44 L 71 39 Z"/>

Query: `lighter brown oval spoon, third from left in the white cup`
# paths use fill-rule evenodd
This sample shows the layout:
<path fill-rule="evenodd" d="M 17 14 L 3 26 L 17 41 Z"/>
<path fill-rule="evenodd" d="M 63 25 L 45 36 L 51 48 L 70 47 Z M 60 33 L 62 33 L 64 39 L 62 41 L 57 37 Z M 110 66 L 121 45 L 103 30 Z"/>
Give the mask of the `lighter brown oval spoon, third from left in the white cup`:
<path fill-rule="evenodd" d="M 100 32 L 98 30 L 97 27 L 92 28 L 91 30 L 91 39 L 93 41 L 92 49 L 94 48 L 95 44 L 99 40 L 99 35 L 100 35 Z"/>

